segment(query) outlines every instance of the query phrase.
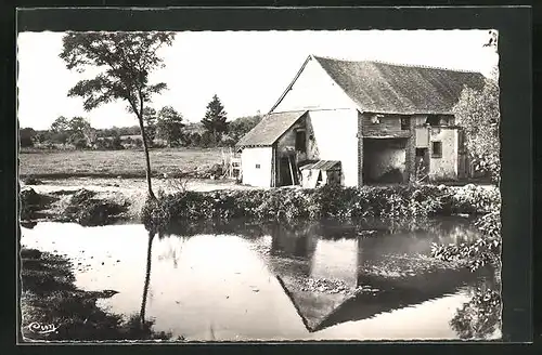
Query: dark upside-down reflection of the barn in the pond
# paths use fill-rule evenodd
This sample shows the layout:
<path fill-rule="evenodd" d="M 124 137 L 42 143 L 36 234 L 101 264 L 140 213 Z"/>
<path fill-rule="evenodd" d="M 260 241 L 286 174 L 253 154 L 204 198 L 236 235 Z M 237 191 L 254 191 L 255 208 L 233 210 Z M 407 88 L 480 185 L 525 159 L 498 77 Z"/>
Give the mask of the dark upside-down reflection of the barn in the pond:
<path fill-rule="evenodd" d="M 274 257 L 271 264 L 308 330 L 317 331 L 456 293 L 476 284 L 483 276 L 480 273 L 424 258 L 435 238 L 451 242 L 465 237 L 454 232 L 448 236 L 448 228 L 441 233 L 377 232 L 360 237 L 348 225 L 275 224 L 269 228 Z M 337 287 L 343 287 L 341 291 Z"/>

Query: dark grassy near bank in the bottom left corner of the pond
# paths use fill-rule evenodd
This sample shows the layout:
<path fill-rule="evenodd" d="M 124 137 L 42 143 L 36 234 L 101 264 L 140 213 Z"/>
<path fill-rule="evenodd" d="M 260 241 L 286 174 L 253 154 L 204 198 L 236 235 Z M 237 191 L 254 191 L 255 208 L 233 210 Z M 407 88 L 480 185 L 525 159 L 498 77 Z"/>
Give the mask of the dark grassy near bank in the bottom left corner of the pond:
<path fill-rule="evenodd" d="M 96 306 L 113 297 L 104 290 L 89 292 L 74 286 L 72 264 L 64 258 L 34 249 L 21 251 L 21 332 L 24 341 L 155 340 L 170 334 L 155 332 L 153 323 L 138 315 L 124 319 Z M 55 331 L 43 332 L 44 326 Z"/>

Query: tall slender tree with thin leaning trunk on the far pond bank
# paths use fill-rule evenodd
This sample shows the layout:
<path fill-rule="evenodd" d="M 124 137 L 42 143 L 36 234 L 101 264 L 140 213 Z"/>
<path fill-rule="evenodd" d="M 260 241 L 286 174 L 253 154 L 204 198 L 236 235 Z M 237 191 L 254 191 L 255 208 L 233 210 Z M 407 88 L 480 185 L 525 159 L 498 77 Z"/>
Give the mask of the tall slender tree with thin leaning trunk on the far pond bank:
<path fill-rule="evenodd" d="M 153 94 L 164 91 L 165 82 L 150 83 L 149 75 L 164 67 L 157 54 L 163 45 L 171 45 L 173 32 L 68 32 L 63 38 L 61 58 L 68 69 L 102 69 L 92 79 L 79 81 L 68 96 L 80 96 L 91 110 L 116 100 L 128 103 L 139 121 L 146 162 L 149 196 L 156 199 L 151 184 L 151 160 L 145 137 L 143 108 Z"/>

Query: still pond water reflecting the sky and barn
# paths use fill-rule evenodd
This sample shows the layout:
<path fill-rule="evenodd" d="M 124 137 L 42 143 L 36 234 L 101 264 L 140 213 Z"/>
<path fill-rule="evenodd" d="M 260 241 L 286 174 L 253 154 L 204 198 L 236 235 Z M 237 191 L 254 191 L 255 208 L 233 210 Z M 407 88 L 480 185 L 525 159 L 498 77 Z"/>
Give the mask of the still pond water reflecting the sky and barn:
<path fill-rule="evenodd" d="M 476 237 L 468 221 L 423 231 L 300 225 L 192 225 L 149 236 L 142 225 L 39 223 L 22 245 L 74 263 L 76 285 L 119 293 L 100 306 L 154 319 L 194 341 L 441 340 L 475 287 L 491 280 L 429 258 L 431 242 Z M 378 229 L 378 228 L 376 228 Z M 145 287 L 147 285 L 147 287 Z"/>

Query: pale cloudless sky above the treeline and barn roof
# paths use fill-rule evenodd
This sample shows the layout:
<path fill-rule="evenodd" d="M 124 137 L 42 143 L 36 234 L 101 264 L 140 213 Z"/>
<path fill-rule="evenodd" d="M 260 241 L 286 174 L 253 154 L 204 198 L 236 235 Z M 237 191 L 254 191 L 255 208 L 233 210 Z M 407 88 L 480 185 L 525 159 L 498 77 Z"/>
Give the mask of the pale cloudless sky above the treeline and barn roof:
<path fill-rule="evenodd" d="M 138 124 L 118 101 L 85 111 L 68 90 L 88 74 L 70 71 L 59 57 L 63 32 L 22 32 L 17 38 L 18 108 L 22 128 L 48 129 L 59 117 L 82 116 L 94 128 Z M 189 122 L 199 121 L 218 95 L 229 119 L 266 114 L 294 79 L 309 54 L 351 61 L 376 60 L 479 71 L 498 64 L 483 47 L 482 30 L 337 30 L 337 31 L 183 31 L 159 54 L 166 67 L 151 82 L 168 90 L 153 98 L 157 110 L 169 105 Z"/>

